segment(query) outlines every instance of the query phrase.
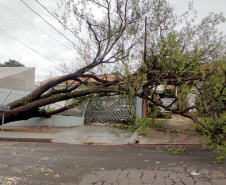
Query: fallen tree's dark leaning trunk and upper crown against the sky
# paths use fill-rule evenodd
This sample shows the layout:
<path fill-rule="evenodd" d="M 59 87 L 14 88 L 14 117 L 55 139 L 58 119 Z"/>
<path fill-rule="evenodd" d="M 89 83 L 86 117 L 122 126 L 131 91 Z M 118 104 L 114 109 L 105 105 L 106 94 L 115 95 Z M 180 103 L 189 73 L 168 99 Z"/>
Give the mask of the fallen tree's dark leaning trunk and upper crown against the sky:
<path fill-rule="evenodd" d="M 11 110 L 5 113 L 6 123 L 60 112 L 92 94 L 138 95 L 162 106 L 154 101 L 154 96 L 147 97 L 145 92 L 139 93 L 138 90 L 148 85 L 147 90 L 152 89 L 154 94 L 160 84 L 182 86 L 186 83 L 191 86 L 208 79 L 224 63 L 222 36 L 216 32 L 216 26 L 224 21 L 221 14 L 210 14 L 199 24 L 194 24 L 194 17 L 189 17 L 192 9 L 179 18 L 164 0 L 61 0 L 59 5 L 64 8 L 63 26 L 67 27 L 67 20 L 73 14 L 77 21 L 73 30 L 78 31 L 74 32 L 77 33 L 75 36 L 80 37 L 84 30 L 89 35 L 80 39 L 80 47 L 77 47 L 80 59 L 76 62 L 82 61 L 84 67 L 71 69 L 74 72 L 51 80 L 26 97 L 10 103 Z M 97 9 L 102 10 L 100 15 L 95 15 Z M 204 63 L 211 63 L 211 68 L 207 70 Z M 101 69 L 107 74 L 98 78 L 95 72 Z M 111 80 L 107 78 L 109 75 L 113 76 Z M 90 79 L 96 83 L 91 84 Z M 57 89 L 56 86 L 63 82 L 67 84 L 65 88 Z M 87 88 L 78 90 L 81 86 Z M 40 110 L 42 106 L 68 99 L 74 101 L 61 110 L 52 113 Z M 188 109 L 174 112 L 184 114 Z"/>

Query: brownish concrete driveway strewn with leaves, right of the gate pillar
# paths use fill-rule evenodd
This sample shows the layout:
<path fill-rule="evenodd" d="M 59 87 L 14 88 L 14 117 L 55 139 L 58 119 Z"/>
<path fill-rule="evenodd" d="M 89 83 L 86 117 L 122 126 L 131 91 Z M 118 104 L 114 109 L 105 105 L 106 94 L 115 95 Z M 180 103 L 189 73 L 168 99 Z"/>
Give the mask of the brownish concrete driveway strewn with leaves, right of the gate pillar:
<path fill-rule="evenodd" d="M 163 126 L 166 132 L 149 128 L 149 134 L 146 137 L 137 136 L 136 140 L 139 144 L 202 145 L 207 143 L 206 138 L 189 129 L 194 124 L 189 118 L 171 114 L 171 119 L 156 119 L 155 121 L 166 123 Z"/>

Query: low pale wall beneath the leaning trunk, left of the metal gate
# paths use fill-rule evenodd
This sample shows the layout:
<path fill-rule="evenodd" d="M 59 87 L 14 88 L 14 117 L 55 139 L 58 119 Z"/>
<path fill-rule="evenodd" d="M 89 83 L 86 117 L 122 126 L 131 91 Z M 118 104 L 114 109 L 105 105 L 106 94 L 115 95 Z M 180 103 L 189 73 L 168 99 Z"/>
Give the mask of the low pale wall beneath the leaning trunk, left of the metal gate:
<path fill-rule="evenodd" d="M 5 126 L 57 126 L 69 127 L 84 125 L 84 117 L 54 115 L 51 118 L 31 118 L 25 121 L 14 121 Z"/>

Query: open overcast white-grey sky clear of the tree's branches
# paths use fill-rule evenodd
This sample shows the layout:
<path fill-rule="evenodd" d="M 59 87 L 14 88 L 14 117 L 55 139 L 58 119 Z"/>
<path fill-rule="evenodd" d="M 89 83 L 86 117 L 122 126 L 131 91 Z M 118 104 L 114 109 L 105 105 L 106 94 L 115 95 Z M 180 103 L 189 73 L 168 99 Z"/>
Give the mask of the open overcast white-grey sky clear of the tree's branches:
<path fill-rule="evenodd" d="M 77 39 L 74 38 L 70 32 L 64 30 L 58 21 L 35 2 L 35 0 L 23 1 L 56 27 L 61 33 L 70 38 L 70 40 L 74 43 L 78 43 Z M 56 0 L 39 0 L 39 2 L 51 12 L 57 8 Z M 189 0 L 169 0 L 169 2 L 173 5 L 176 12 L 182 13 L 187 9 Z M 197 10 L 200 19 L 207 16 L 210 12 L 223 12 L 224 16 L 226 16 L 225 0 L 193 0 L 193 2 L 194 8 Z M 57 41 L 21 19 L 16 14 L 23 17 L 26 21 L 32 23 L 54 39 L 57 39 Z M 226 23 L 222 24 L 219 29 L 226 34 Z M 21 44 L 16 39 L 44 57 Z M 50 71 L 53 73 L 55 72 L 53 76 L 58 75 L 59 73 L 56 71 L 55 66 L 61 61 L 71 63 L 72 61 L 75 61 L 75 57 L 76 53 L 73 51 L 72 44 L 32 12 L 21 2 L 21 0 L 0 0 L 1 63 L 8 61 L 9 59 L 14 59 L 23 63 L 26 67 L 35 67 L 35 80 L 41 81 L 50 75 Z"/>

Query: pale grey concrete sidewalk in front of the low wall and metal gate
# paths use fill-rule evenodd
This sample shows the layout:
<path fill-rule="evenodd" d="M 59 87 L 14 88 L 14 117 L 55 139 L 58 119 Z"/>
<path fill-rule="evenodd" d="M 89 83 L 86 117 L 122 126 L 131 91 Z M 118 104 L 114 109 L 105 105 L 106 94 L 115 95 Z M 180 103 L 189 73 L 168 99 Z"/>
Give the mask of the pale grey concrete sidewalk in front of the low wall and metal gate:
<path fill-rule="evenodd" d="M 83 125 L 58 133 L 0 131 L 0 141 L 53 142 L 67 144 L 128 144 L 131 133 L 119 128 Z"/>

